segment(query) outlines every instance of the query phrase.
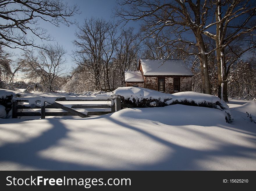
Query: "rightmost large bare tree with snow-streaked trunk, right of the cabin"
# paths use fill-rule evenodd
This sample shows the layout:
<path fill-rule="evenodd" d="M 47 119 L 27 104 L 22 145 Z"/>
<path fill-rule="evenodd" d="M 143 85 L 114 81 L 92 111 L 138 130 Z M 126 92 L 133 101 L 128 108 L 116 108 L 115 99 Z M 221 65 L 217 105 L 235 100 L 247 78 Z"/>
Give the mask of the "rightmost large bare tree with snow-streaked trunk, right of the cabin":
<path fill-rule="evenodd" d="M 208 7 L 212 12 L 212 22 L 208 23 L 202 33 L 216 42 L 216 57 L 218 67 L 218 96 L 224 101 L 227 99 L 227 77 L 231 65 L 239 59 L 243 53 L 255 48 L 255 44 L 246 43 L 240 50 L 234 49 L 237 43 L 250 42 L 254 38 L 256 30 L 255 1 L 251 0 L 215 0 Z M 209 18 L 210 19 L 210 18 Z M 216 33 L 209 32 L 216 28 Z M 213 50 L 213 51 L 214 51 Z M 235 55 L 230 60 L 226 54 L 230 51 Z"/>

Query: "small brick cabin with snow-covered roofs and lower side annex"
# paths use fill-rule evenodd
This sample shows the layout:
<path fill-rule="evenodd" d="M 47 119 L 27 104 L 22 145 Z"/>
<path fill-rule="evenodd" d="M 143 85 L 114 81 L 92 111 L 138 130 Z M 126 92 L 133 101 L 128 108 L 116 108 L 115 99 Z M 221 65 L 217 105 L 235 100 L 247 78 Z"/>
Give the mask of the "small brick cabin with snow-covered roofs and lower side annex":
<path fill-rule="evenodd" d="M 125 71 L 126 87 L 135 86 L 159 92 L 191 91 L 193 73 L 183 60 L 140 59 L 139 70 Z"/>

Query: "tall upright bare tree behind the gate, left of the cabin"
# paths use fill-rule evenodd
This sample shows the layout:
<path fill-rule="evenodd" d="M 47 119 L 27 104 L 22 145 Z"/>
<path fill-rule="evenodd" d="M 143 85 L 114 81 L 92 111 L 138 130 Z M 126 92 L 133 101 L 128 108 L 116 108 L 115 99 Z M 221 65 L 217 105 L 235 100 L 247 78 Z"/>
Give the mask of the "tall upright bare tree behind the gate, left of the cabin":
<path fill-rule="evenodd" d="M 77 40 L 73 44 L 77 49 L 73 51 L 73 59 L 84 67 L 84 72 L 91 74 L 89 80 L 94 83 L 95 90 L 102 90 L 102 86 L 109 89 L 108 65 L 117 43 L 115 28 L 104 19 L 90 18 L 85 19 L 75 33 Z"/>

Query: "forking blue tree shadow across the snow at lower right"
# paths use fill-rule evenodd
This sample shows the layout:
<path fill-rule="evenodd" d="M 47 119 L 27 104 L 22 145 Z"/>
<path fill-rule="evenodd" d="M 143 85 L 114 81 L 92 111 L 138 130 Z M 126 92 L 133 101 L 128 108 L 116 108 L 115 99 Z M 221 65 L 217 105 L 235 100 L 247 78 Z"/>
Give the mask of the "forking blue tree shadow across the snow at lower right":
<path fill-rule="evenodd" d="M 167 140 L 163 140 L 162 138 L 152 135 L 144 131 L 143 129 L 136 128 L 127 123 L 117 121 L 113 118 L 108 118 L 108 119 L 122 126 L 123 128 L 129 128 L 138 133 L 141 133 L 147 136 L 148 139 L 151 139 L 157 143 L 163 144 L 164 146 L 167 146 L 170 149 L 170 152 L 165 153 L 164 157 L 159 158 L 159 160 L 155 161 L 155 163 L 144 164 L 144 165 L 133 164 L 135 169 L 132 169 L 132 170 L 212 170 L 212 169 L 243 170 L 243 169 L 240 169 L 235 164 L 232 164 L 233 166 L 230 167 L 230 166 L 227 166 L 227 164 L 225 163 L 220 163 L 219 159 L 217 159 L 220 157 L 251 158 L 252 160 L 255 161 L 254 163 L 255 165 L 251 166 L 251 169 L 252 170 L 256 169 L 256 158 L 255 156 L 251 156 L 251 153 L 256 153 L 256 147 L 250 148 L 250 147 L 243 147 L 243 146 L 226 143 L 226 144 L 222 144 L 220 147 L 214 150 L 191 149 L 191 148 L 174 144 Z M 188 131 L 191 131 L 191 133 L 195 133 L 192 130 L 188 130 Z M 216 138 L 209 137 L 209 139 L 215 140 Z M 250 141 L 255 142 L 255 139 L 252 138 Z M 202 161 L 211 161 L 215 163 L 216 166 L 214 167 L 207 166 L 207 162 L 202 163 Z M 228 162 L 228 164 L 230 165 L 231 163 Z M 245 166 L 245 165 L 242 164 L 242 166 Z"/>

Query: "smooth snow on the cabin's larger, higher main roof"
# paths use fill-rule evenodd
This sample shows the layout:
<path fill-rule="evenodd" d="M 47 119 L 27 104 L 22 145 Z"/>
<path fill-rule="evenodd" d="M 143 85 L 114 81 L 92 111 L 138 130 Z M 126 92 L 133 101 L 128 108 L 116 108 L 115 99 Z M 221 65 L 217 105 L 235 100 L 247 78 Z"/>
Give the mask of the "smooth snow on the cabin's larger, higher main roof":
<path fill-rule="evenodd" d="M 157 75 L 184 75 L 192 76 L 193 73 L 185 65 L 183 60 L 178 59 L 140 59 L 144 76 Z"/>

